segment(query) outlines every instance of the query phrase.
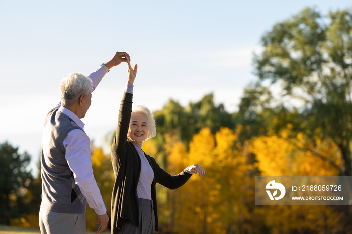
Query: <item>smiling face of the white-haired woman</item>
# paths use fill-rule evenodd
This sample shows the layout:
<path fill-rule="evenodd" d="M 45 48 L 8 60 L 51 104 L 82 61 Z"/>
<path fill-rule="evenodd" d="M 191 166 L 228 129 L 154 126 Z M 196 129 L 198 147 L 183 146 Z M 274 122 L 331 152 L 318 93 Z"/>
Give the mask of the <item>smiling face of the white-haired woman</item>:
<path fill-rule="evenodd" d="M 142 145 L 148 136 L 148 118 L 144 113 L 132 113 L 127 138 Z"/>

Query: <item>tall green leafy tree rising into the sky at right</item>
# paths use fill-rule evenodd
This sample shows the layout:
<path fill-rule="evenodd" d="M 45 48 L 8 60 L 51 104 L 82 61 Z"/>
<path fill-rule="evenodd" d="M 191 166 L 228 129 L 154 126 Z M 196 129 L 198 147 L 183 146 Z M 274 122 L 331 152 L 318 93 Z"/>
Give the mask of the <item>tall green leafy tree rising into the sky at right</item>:
<path fill-rule="evenodd" d="M 264 50 L 254 58 L 259 79 L 280 83 L 282 96 L 303 101 L 300 131 L 332 139 L 344 162 L 340 174 L 352 176 L 352 11 L 322 16 L 306 8 L 261 42 Z"/>

